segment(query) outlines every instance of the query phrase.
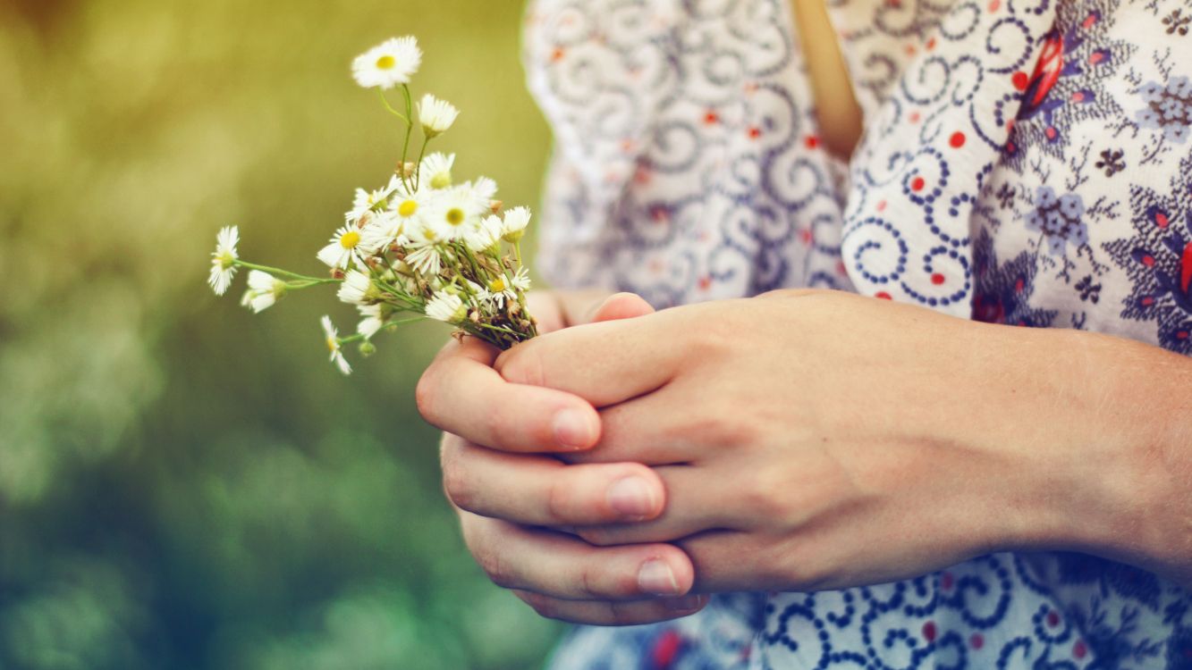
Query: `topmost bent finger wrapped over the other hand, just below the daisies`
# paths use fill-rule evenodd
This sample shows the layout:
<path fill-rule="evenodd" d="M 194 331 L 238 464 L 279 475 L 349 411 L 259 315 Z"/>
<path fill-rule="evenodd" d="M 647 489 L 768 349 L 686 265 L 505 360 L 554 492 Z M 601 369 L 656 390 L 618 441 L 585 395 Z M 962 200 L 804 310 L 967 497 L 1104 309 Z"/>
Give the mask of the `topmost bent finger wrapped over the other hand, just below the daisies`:
<path fill-rule="evenodd" d="M 496 347 L 476 338 L 451 342 L 418 380 L 418 412 L 432 425 L 504 451 L 588 449 L 600 418 L 583 399 L 513 384 L 492 369 Z"/>

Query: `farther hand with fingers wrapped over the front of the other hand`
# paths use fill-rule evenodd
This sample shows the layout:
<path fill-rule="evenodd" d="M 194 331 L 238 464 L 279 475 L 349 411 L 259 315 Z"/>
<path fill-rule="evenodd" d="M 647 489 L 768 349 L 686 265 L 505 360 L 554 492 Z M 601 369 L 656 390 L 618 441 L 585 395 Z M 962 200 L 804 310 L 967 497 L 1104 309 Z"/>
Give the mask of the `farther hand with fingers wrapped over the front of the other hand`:
<path fill-rule="evenodd" d="M 540 293 L 529 311 L 551 332 L 652 308 L 628 294 Z M 539 527 L 651 519 L 665 490 L 641 464 L 565 467 L 548 456 L 590 449 L 600 418 L 573 394 L 502 380 L 491 368 L 498 353 L 473 338 L 453 340 L 417 388 L 422 415 L 445 431 L 443 487 L 480 566 L 544 616 L 639 624 L 700 609 L 706 599 L 683 597 L 694 575 L 677 547 L 594 547 Z"/>

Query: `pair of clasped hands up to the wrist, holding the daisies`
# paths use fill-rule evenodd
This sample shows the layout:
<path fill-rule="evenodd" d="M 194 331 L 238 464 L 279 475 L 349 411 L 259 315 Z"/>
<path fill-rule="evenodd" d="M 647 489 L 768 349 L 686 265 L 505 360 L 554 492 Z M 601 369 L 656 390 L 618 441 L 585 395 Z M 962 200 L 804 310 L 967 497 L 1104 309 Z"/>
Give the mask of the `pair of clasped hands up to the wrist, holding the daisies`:
<path fill-rule="evenodd" d="M 877 583 L 1038 530 L 1004 417 L 956 417 L 998 393 L 963 359 L 988 326 L 836 292 L 657 313 L 619 294 L 591 323 L 538 299 L 553 332 L 499 356 L 453 342 L 417 397 L 468 549 L 545 616 Z"/>

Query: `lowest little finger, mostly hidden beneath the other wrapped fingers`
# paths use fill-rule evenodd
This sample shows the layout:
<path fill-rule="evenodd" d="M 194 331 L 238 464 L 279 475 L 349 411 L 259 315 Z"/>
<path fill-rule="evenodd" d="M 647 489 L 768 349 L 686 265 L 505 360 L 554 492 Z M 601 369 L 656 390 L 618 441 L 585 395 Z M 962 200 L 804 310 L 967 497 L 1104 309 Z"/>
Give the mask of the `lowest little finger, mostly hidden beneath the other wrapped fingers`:
<path fill-rule="evenodd" d="M 645 601 L 560 600 L 534 591 L 514 590 L 539 615 L 590 626 L 637 626 L 695 614 L 708 603 L 706 595 Z"/>

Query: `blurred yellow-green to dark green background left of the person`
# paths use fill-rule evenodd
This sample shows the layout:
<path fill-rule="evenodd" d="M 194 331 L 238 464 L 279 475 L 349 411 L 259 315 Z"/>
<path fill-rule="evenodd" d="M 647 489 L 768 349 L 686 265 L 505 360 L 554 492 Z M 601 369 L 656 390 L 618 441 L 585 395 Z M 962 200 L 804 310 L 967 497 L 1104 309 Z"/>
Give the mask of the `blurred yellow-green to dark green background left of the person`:
<path fill-rule="evenodd" d="M 0 0 L 0 668 L 533 668 L 559 630 L 488 583 L 439 489 L 417 326 L 341 377 L 317 317 L 205 286 L 318 273 L 397 156 L 350 60 L 415 35 L 440 149 L 535 205 L 521 2 Z"/>

